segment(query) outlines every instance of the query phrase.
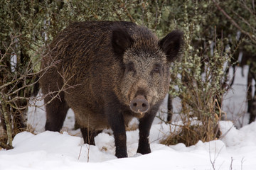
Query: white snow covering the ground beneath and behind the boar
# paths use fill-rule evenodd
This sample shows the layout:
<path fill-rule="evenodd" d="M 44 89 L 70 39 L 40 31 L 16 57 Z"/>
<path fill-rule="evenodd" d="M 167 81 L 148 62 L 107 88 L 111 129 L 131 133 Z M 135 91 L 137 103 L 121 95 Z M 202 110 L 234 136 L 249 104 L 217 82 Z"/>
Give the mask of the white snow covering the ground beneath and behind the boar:
<path fill-rule="evenodd" d="M 247 69 L 247 68 L 246 68 Z M 83 144 L 79 130 L 73 130 L 70 110 L 61 133 L 44 132 L 46 121 L 42 108 L 30 108 L 28 123 L 37 135 L 21 132 L 14 137 L 14 149 L 0 151 L 0 170 L 5 169 L 256 169 L 256 122 L 247 125 L 246 74 L 238 68 L 233 91 L 225 96 L 223 111 L 227 119 L 220 122 L 223 136 L 211 142 L 199 141 L 186 147 L 159 144 L 169 135 L 170 125 L 156 118 L 151 128 L 151 154 L 137 154 L 139 131 L 127 132 L 128 158 L 114 157 L 114 137 L 105 130 L 95 137 L 96 146 Z M 174 107 L 178 109 L 178 101 Z M 178 115 L 174 116 L 178 117 Z M 233 120 L 233 121 L 230 121 Z M 174 118 L 174 121 L 176 119 Z M 134 120 L 136 123 L 136 121 Z M 242 127 L 240 129 L 235 127 Z"/>

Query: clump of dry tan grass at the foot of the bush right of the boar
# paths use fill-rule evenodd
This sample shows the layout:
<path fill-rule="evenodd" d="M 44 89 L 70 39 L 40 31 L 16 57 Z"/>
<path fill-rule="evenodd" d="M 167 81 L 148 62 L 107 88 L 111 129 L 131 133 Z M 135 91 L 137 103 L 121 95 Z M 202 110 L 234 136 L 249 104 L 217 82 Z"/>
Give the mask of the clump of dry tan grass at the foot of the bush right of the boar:
<path fill-rule="evenodd" d="M 187 98 L 188 96 L 184 97 Z M 180 115 L 181 125 L 174 125 L 176 130 L 170 130 L 171 135 L 162 140 L 161 144 L 176 145 L 183 143 L 188 147 L 196 145 L 199 140 L 209 142 L 220 137 L 218 123 L 225 113 L 221 110 L 217 100 L 208 98 L 208 100 L 200 102 L 198 98 L 193 98 L 193 96 L 191 98 L 193 100 L 183 100 L 186 103 L 183 104 L 181 110 L 181 113 L 183 113 Z M 193 103 L 191 103 L 192 101 Z M 201 107 L 194 103 L 200 103 Z"/>

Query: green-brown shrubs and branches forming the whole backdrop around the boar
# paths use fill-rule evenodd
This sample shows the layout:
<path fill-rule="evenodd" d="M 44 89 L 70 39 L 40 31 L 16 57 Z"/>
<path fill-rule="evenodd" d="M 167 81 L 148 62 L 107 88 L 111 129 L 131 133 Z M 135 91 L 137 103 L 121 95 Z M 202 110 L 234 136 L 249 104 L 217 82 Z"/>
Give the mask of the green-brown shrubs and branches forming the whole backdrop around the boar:
<path fill-rule="evenodd" d="M 171 69 L 169 100 L 181 98 L 183 131 L 164 143 L 193 145 L 218 137 L 223 94 L 232 85 L 232 77 L 226 74 L 230 67 L 250 66 L 247 99 L 250 122 L 254 121 L 255 5 L 254 0 L 1 1 L 0 147 L 10 149 L 14 135 L 27 129 L 26 111 L 33 104 L 29 100 L 38 75 L 46 71 L 39 69 L 41 58 L 60 30 L 75 21 L 132 21 L 159 38 L 171 30 L 183 31 L 182 59 Z M 191 117 L 197 117 L 201 124 L 194 125 Z"/>

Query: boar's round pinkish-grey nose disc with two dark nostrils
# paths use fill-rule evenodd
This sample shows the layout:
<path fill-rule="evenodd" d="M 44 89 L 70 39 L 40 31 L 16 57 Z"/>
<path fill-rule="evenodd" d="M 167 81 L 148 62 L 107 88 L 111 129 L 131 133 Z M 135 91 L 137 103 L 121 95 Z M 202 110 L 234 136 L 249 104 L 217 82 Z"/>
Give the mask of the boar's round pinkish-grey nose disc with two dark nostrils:
<path fill-rule="evenodd" d="M 145 113 L 149 111 L 149 102 L 144 96 L 138 95 L 131 101 L 130 108 L 135 113 Z"/>

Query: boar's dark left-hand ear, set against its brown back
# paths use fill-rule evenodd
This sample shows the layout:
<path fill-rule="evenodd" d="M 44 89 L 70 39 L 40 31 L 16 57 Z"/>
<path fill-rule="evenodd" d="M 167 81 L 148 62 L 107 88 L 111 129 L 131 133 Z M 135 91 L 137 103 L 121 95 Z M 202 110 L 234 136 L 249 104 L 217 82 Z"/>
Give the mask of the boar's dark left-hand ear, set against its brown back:
<path fill-rule="evenodd" d="M 117 55 L 124 55 L 125 50 L 131 47 L 133 40 L 125 28 L 119 26 L 112 30 L 112 47 Z"/>

